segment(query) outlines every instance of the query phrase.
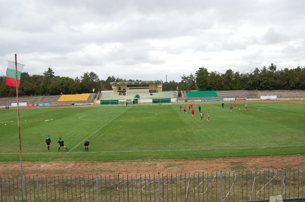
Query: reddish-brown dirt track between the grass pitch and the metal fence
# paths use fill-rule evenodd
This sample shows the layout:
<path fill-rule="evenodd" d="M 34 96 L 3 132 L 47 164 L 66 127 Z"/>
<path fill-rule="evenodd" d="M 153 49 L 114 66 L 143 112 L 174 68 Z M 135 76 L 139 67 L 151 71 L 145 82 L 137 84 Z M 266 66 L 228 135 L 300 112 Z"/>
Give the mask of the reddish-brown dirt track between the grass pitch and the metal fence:
<path fill-rule="evenodd" d="M 140 171 L 189 173 L 204 171 L 245 171 L 259 169 L 305 167 L 305 155 L 217 158 L 200 160 L 136 160 L 136 161 L 50 161 L 24 162 L 24 175 L 113 175 L 137 174 Z M 19 162 L 0 162 L 0 175 L 19 173 Z"/>

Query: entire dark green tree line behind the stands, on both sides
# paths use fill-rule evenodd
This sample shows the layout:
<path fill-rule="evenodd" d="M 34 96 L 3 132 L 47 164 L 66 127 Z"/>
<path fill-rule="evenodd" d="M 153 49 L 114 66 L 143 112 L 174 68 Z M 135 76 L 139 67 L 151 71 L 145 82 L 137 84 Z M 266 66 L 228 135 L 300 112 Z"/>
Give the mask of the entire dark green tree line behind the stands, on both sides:
<path fill-rule="evenodd" d="M 0 97 L 16 96 L 15 88 L 5 85 L 5 76 L 0 76 Z M 19 88 L 20 96 L 60 95 L 92 93 L 111 90 L 110 82 L 135 81 L 132 79 L 108 76 L 106 80 L 99 79 L 94 72 L 85 72 L 76 78 L 55 76 L 52 68 L 43 75 L 21 74 Z M 137 80 L 138 81 L 138 80 Z M 225 73 L 209 72 L 200 67 L 195 74 L 181 76 L 181 81 L 163 82 L 163 91 L 179 90 L 305 90 L 305 68 L 277 70 L 277 66 L 256 68 L 250 73 L 234 72 L 228 69 Z"/>

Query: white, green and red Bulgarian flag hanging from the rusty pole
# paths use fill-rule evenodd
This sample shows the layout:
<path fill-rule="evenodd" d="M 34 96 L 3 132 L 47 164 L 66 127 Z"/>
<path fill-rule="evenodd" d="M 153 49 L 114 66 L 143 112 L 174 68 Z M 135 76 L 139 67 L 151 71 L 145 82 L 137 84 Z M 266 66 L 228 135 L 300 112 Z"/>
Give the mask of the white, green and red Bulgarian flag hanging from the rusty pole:
<path fill-rule="evenodd" d="M 20 86 L 20 77 L 21 77 L 21 71 L 24 65 L 17 63 L 17 78 L 16 78 L 16 68 L 15 68 L 15 62 L 8 61 L 8 69 L 7 69 L 7 78 L 6 78 L 6 85 L 14 86 L 16 87 L 16 79 L 18 82 L 18 88 Z"/>

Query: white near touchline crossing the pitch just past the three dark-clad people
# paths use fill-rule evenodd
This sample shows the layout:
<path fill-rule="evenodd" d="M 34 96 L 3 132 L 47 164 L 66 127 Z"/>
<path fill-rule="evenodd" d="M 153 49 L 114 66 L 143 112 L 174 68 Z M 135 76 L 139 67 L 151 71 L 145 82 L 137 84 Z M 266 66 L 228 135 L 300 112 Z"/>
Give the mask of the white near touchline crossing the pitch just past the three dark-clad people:
<path fill-rule="evenodd" d="M 210 150 L 246 150 L 246 149 L 266 149 L 266 148 L 282 148 L 282 147 L 303 147 L 305 145 L 287 145 L 287 146 L 266 146 L 266 147 L 241 147 L 241 148 L 211 148 L 211 149 L 184 149 L 184 150 L 134 150 L 134 151 L 100 151 L 88 153 L 128 153 L 128 152 L 175 152 L 175 151 L 210 151 Z M 71 151 L 71 150 L 70 150 Z M 72 152 L 70 154 L 77 154 L 84 152 Z M 19 153 L 0 153 L 0 154 L 19 154 Z M 69 154 L 57 152 L 23 152 L 23 154 Z"/>

